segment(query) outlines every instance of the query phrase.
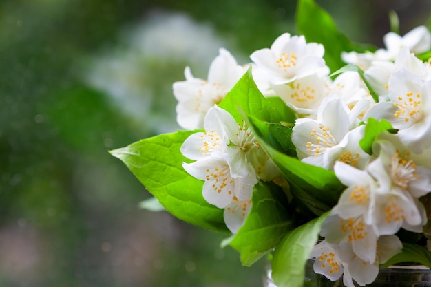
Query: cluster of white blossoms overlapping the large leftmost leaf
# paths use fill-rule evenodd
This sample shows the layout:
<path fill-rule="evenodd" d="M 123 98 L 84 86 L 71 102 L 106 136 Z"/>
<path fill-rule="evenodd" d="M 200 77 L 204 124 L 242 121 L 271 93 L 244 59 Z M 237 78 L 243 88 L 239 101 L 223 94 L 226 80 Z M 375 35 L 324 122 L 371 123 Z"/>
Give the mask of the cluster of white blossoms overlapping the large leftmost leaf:
<path fill-rule="evenodd" d="M 280 171 L 244 121 L 236 123 L 217 105 L 208 110 L 204 129 L 183 142 L 180 151 L 196 162 L 183 163 L 182 167 L 191 176 L 204 180 L 204 199 L 224 209 L 224 222 L 236 233 L 249 213 L 257 180 L 272 180 Z"/>

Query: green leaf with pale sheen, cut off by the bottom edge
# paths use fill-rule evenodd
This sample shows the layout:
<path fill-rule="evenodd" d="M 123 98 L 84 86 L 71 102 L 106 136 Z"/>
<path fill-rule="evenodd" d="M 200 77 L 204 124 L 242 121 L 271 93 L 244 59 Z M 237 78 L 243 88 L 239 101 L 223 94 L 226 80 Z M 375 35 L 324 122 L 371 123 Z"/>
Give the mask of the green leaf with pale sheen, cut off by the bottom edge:
<path fill-rule="evenodd" d="M 271 276 L 278 287 L 303 286 L 305 264 L 328 214 L 325 213 L 289 232 L 275 248 Z"/>

